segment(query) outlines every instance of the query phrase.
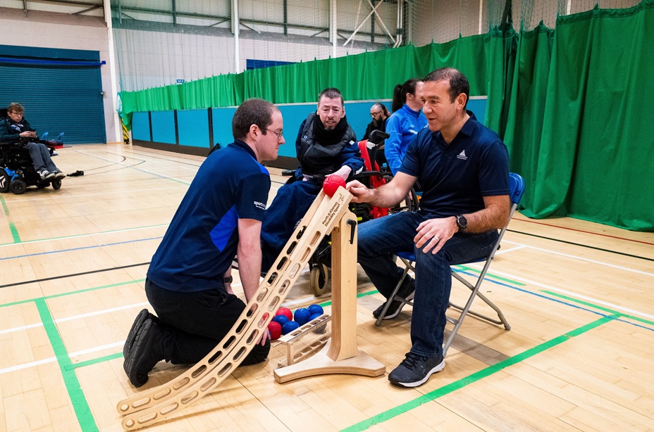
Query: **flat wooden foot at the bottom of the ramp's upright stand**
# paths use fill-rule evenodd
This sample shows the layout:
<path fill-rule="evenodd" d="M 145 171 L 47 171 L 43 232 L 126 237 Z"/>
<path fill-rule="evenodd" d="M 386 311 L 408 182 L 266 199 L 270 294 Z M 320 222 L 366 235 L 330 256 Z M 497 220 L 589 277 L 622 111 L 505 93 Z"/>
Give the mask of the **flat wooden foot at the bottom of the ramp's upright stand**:
<path fill-rule="evenodd" d="M 330 345 L 331 340 L 327 342 L 320 352 L 316 352 L 316 355 L 307 360 L 275 369 L 275 381 L 285 383 L 306 376 L 324 374 L 380 376 L 386 371 L 386 367 L 381 362 L 378 362 L 361 350 L 359 350 L 359 355 L 355 355 L 354 357 L 343 360 L 331 360 L 327 355 Z"/>

